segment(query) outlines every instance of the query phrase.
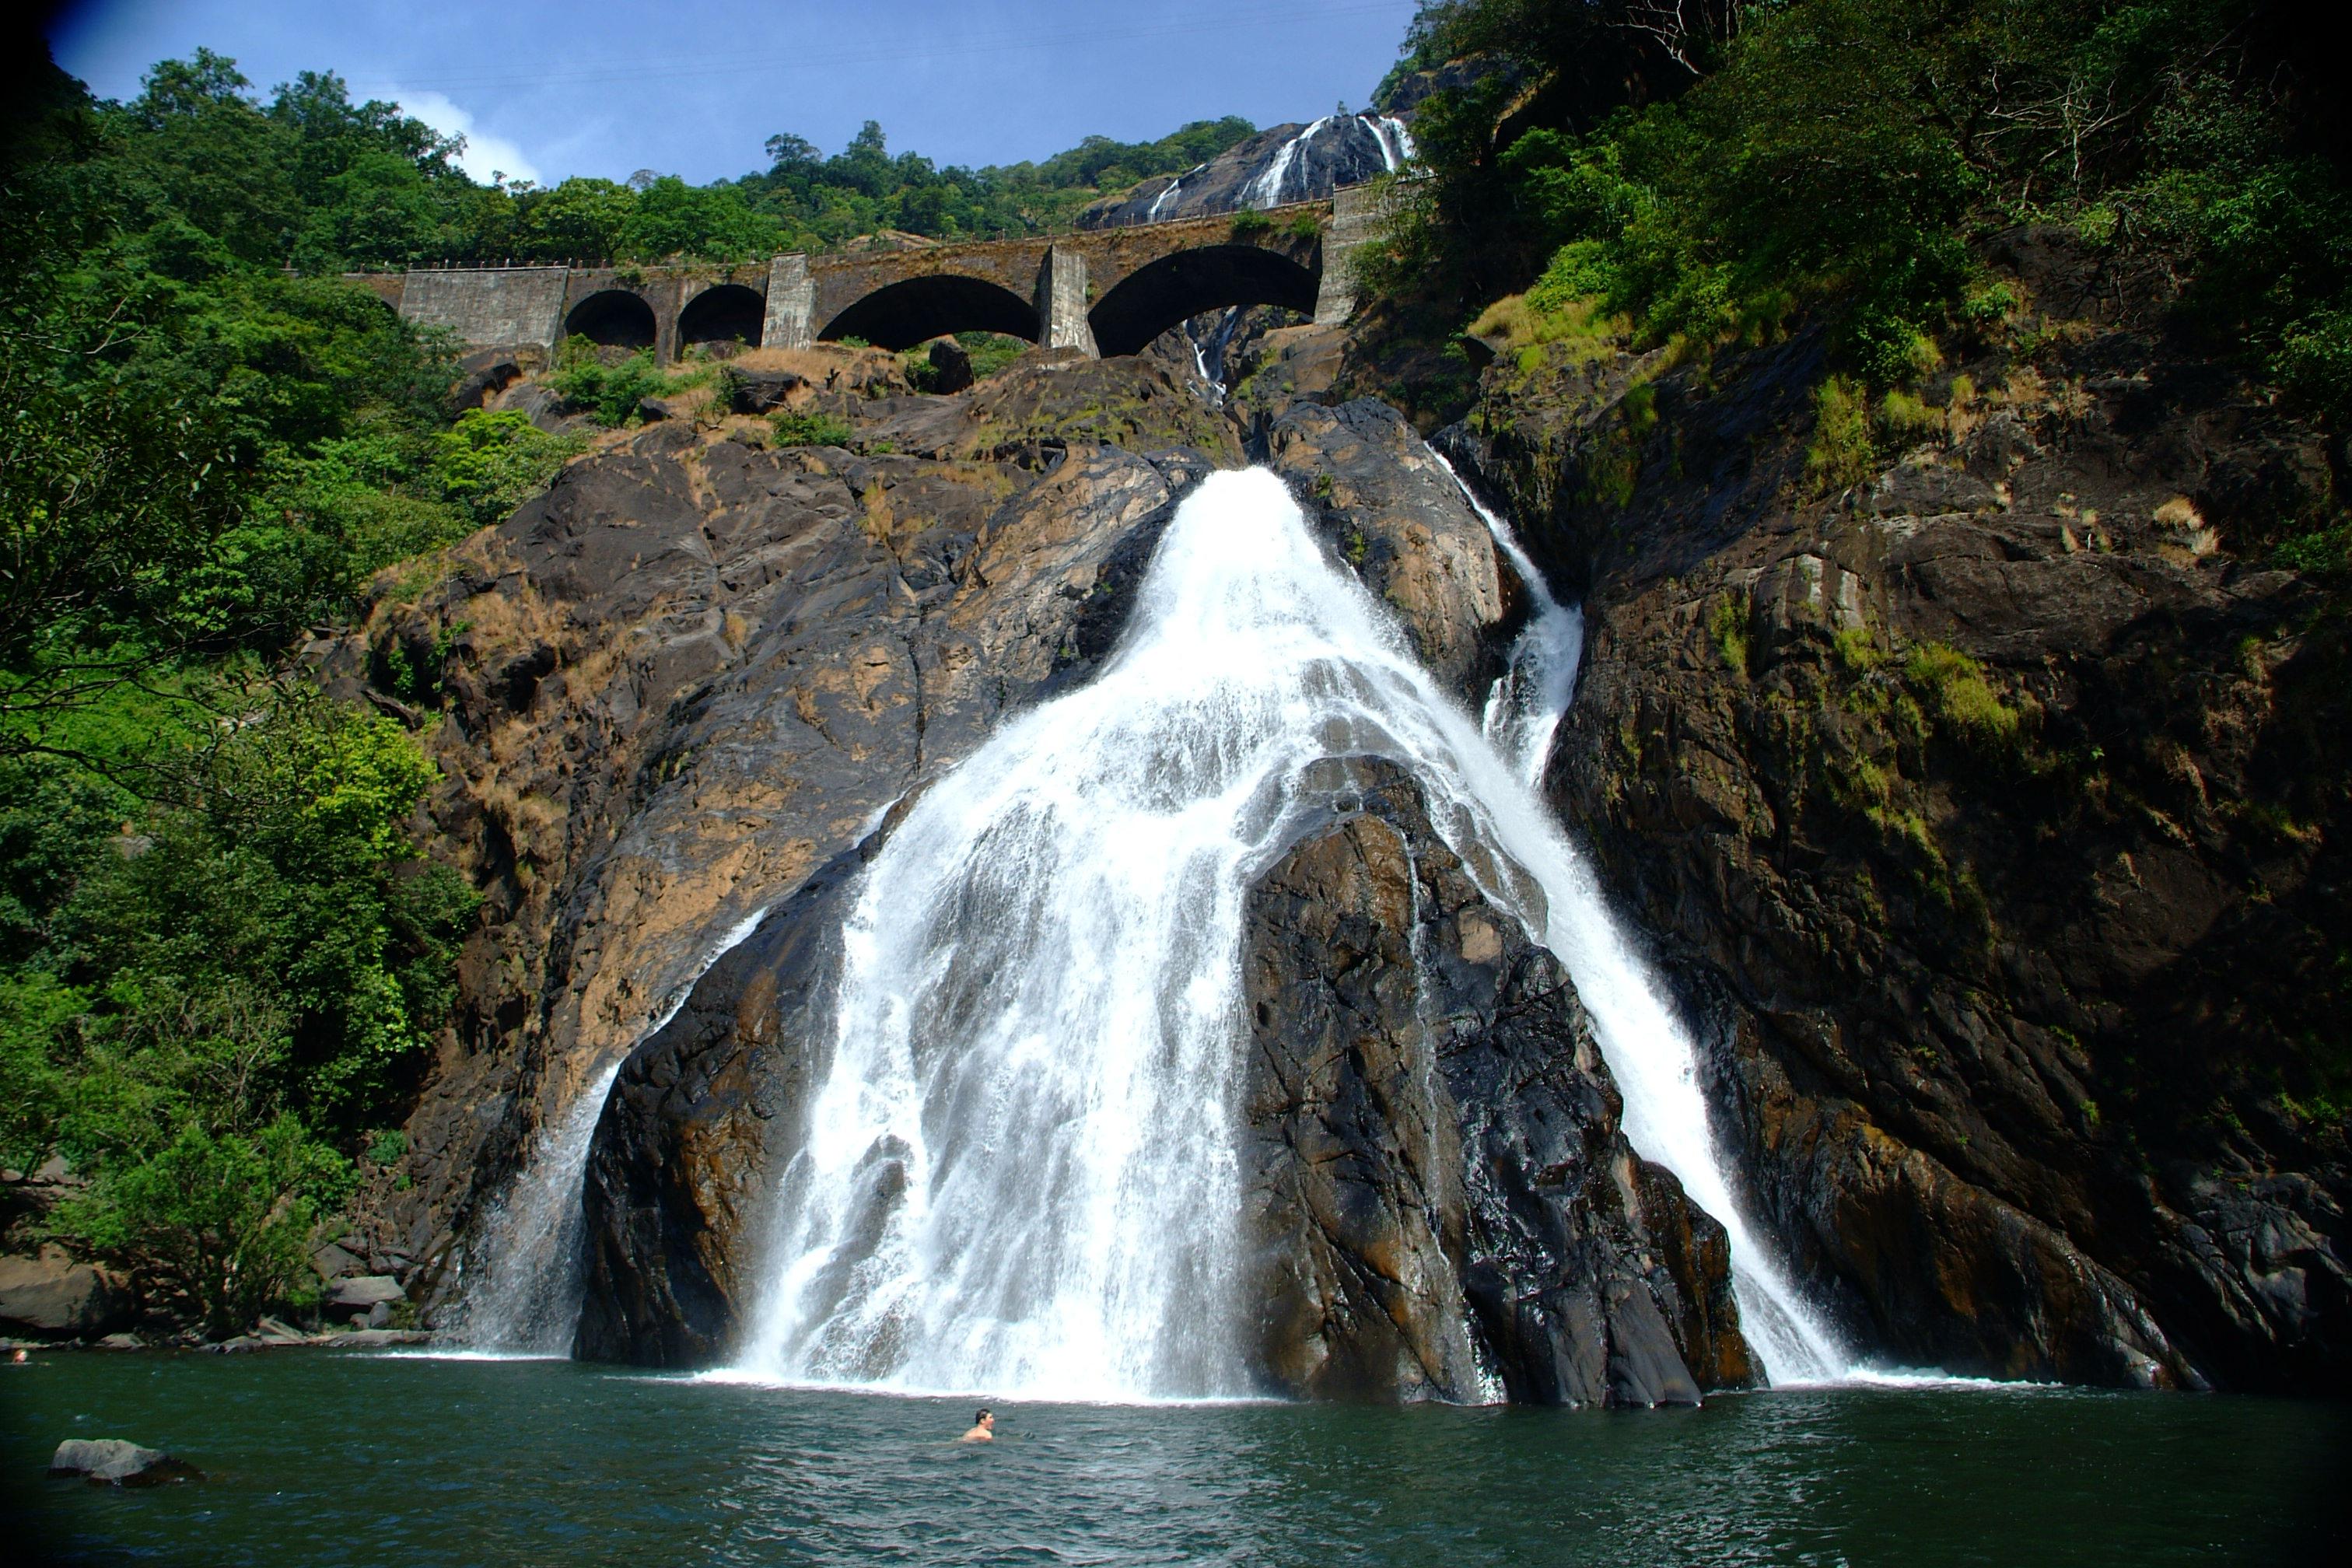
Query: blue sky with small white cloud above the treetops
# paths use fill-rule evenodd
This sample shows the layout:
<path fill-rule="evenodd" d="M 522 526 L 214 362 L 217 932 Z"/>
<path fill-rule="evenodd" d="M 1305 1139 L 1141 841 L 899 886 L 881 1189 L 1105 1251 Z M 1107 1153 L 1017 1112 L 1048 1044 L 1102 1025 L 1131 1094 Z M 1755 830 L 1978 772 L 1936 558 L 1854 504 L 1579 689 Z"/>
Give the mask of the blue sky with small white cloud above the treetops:
<path fill-rule="evenodd" d="M 880 120 L 894 153 L 990 165 L 1101 132 L 1362 108 L 1414 0 L 94 0 L 49 26 L 99 96 L 198 45 L 259 89 L 336 71 L 470 141 L 468 172 L 689 181 L 764 167 L 776 132 L 828 153 Z"/>

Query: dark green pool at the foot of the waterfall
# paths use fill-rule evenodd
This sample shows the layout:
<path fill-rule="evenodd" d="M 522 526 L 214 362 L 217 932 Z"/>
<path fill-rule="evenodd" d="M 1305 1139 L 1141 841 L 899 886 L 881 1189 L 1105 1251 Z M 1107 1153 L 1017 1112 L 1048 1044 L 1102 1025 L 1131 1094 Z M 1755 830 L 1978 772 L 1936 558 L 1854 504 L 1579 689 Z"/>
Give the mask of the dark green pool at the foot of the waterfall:
<path fill-rule="evenodd" d="M 1700 1410 L 1023 1406 L 567 1361 L 54 1354 L 0 1368 L 5 1561 L 2324 1563 L 2352 1410 L 1835 1389 Z M 47 1481 L 66 1436 L 200 1465 Z"/>

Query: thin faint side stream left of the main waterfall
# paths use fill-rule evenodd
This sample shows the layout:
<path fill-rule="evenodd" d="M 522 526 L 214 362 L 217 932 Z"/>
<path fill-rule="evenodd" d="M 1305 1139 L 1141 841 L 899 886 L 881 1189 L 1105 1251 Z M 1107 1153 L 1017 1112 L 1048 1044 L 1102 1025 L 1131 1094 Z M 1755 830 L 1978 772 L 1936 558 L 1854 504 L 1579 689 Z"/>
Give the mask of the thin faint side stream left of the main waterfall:
<path fill-rule="evenodd" d="M 694 992 L 694 980 L 750 936 L 764 914 L 767 910 L 755 910 L 743 917 L 701 954 L 694 973 L 670 994 L 640 1041 L 652 1039 L 677 1018 Z M 581 1213 L 588 1145 L 595 1143 L 595 1124 L 604 1114 L 612 1081 L 621 1077 L 626 1060 L 628 1051 L 609 1060 L 588 1088 L 564 1107 L 562 1117 L 541 1124 L 522 1173 L 489 1213 L 487 1269 L 482 1281 L 466 1293 L 466 1321 L 459 1335 L 466 1345 L 529 1356 L 572 1352 L 588 1241 Z"/>

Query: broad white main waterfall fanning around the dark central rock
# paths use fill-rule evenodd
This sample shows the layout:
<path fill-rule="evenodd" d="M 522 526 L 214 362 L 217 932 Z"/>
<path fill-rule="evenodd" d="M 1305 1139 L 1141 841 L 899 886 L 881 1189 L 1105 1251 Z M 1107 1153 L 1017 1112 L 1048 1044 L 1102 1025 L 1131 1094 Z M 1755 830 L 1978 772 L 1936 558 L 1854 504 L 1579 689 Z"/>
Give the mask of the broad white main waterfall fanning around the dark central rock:
<path fill-rule="evenodd" d="M 1301 776 L 1362 752 L 1411 766 L 1489 898 L 1569 966 L 1628 1135 L 1731 1229 L 1769 1373 L 1837 1366 L 1731 1206 L 1689 1037 L 1529 785 L 1576 611 L 1526 574 L 1541 609 L 1489 703 L 1505 757 L 1277 477 L 1218 473 L 1183 501 L 1096 679 L 943 776 L 866 870 L 739 1375 L 1247 1392 L 1247 896 L 1291 839 Z"/>

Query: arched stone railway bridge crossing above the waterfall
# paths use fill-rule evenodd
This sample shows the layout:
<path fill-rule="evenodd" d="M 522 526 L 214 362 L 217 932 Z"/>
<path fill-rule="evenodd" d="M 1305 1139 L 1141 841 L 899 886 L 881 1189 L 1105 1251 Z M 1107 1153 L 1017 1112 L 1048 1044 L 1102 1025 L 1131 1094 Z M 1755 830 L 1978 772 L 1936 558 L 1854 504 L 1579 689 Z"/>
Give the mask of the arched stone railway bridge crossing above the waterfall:
<path fill-rule="evenodd" d="M 1343 322 L 1355 306 L 1350 252 L 1371 233 L 1362 186 L 1265 212 L 1169 219 L 1073 235 L 920 249 L 774 256 L 755 266 L 452 268 L 355 273 L 419 327 L 477 348 L 567 336 L 649 348 L 663 364 L 689 343 L 807 348 L 866 339 L 913 348 L 946 331 L 1004 331 L 1044 348 L 1131 355 L 1169 327 L 1223 306 L 1284 306 Z M 1298 216 L 1315 233 L 1294 233 Z M 1303 226 L 1298 226 L 1303 228 Z"/>

